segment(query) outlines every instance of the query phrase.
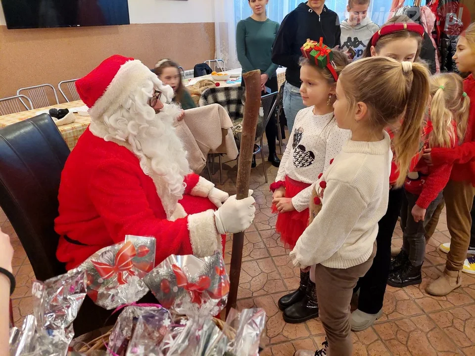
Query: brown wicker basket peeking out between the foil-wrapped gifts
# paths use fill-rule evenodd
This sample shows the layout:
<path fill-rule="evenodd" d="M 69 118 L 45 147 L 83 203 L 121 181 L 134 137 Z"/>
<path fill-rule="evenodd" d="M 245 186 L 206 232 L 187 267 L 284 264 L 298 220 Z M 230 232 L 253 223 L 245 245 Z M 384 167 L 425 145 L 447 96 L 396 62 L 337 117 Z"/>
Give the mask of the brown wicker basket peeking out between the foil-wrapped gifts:
<path fill-rule="evenodd" d="M 183 317 L 176 319 L 176 322 L 179 323 Z M 223 320 L 213 318 L 216 326 L 219 327 L 221 331 L 228 337 L 230 340 L 234 340 L 236 337 L 236 330 L 233 328 L 224 329 L 225 322 Z M 109 342 L 109 337 L 112 332 L 112 326 L 107 326 L 101 329 L 97 329 L 90 333 L 79 336 L 74 340 L 73 349 L 76 352 L 82 353 L 87 356 L 93 356 L 97 351 L 105 351 L 105 345 Z"/>

